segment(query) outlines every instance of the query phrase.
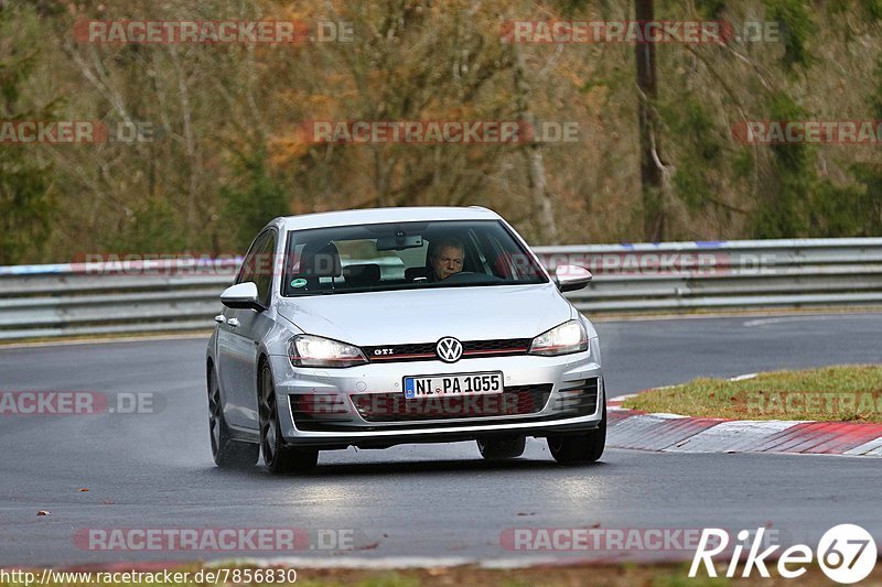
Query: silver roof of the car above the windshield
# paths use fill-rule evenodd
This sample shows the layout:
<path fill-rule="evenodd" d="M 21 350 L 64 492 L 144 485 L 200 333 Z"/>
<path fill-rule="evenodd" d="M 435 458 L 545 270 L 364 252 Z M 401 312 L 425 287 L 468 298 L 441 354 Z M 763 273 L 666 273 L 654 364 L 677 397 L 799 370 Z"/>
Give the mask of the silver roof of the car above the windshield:
<path fill-rule="evenodd" d="M 480 206 L 411 206 L 322 211 L 283 216 L 271 224 L 282 230 L 303 230 L 332 226 L 376 225 L 383 222 L 419 222 L 429 220 L 498 220 L 499 215 Z"/>

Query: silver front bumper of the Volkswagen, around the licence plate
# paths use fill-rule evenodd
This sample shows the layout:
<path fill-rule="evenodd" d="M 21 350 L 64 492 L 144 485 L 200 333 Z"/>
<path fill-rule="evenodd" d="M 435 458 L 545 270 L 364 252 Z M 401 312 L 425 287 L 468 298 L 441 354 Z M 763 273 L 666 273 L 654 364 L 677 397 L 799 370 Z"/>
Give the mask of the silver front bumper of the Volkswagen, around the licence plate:
<path fill-rule="evenodd" d="M 346 369 L 294 368 L 288 357 L 273 356 L 270 367 L 282 437 L 297 446 L 386 447 L 493 435 L 578 433 L 599 425 L 605 398 L 601 367 L 588 351 Z M 503 372 L 508 401 L 481 395 L 448 403 L 434 399 L 434 404 L 427 402 L 418 410 L 405 407 L 412 402 L 404 400 L 405 377 L 484 371 Z"/>

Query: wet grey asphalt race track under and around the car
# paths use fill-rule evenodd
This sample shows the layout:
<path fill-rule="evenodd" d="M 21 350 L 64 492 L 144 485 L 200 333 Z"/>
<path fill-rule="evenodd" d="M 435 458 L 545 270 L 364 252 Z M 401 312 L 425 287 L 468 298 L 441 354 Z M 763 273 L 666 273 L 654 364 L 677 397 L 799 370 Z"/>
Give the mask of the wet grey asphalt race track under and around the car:
<path fill-rule="evenodd" d="M 882 314 L 601 322 L 598 329 L 611 395 L 698 376 L 882 362 Z M 594 467 L 567 469 L 530 439 L 524 457 L 503 465 L 456 443 L 323 453 L 315 472 L 299 478 L 222 471 L 208 445 L 205 343 L 0 349 L 0 391 L 161 396 L 153 414 L 0 415 L 0 565 L 230 556 L 95 551 L 75 540 L 87 529 L 119 528 L 297 528 L 312 546 L 320 530 L 337 531 L 337 540 L 352 531 L 354 550 L 332 547 L 327 533 L 327 551 L 297 553 L 335 559 L 587 556 L 508 550 L 501 535 L 515 528 L 770 525 L 782 540 L 814 543 L 854 522 L 882 537 L 882 459 L 609 449 Z"/>

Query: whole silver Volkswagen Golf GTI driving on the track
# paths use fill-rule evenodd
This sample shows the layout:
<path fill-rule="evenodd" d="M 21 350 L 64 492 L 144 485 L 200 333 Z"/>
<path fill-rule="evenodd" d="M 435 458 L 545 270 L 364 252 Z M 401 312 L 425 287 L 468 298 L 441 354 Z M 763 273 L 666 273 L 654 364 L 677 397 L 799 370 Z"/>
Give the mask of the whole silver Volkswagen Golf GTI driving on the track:
<path fill-rule="evenodd" d="M 547 438 L 563 465 L 606 439 L 598 334 L 486 208 L 277 218 L 257 236 L 208 343 L 222 467 L 305 471 L 320 450 L 476 441 L 488 459 Z"/>

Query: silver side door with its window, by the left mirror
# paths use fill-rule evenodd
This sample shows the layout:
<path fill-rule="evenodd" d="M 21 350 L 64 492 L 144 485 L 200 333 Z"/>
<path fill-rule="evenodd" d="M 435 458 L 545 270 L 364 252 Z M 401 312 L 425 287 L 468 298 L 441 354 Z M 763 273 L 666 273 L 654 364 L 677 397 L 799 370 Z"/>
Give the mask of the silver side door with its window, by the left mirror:
<path fill-rule="evenodd" d="M 245 254 L 236 283 L 257 283 L 270 230 L 265 230 L 255 239 Z M 254 309 L 224 307 L 224 320 L 218 325 L 217 377 L 224 392 L 224 416 L 233 427 L 255 427 L 257 412 L 257 376 L 255 360 L 257 345 L 250 335 Z M 246 327 L 243 328 L 243 325 Z"/>

